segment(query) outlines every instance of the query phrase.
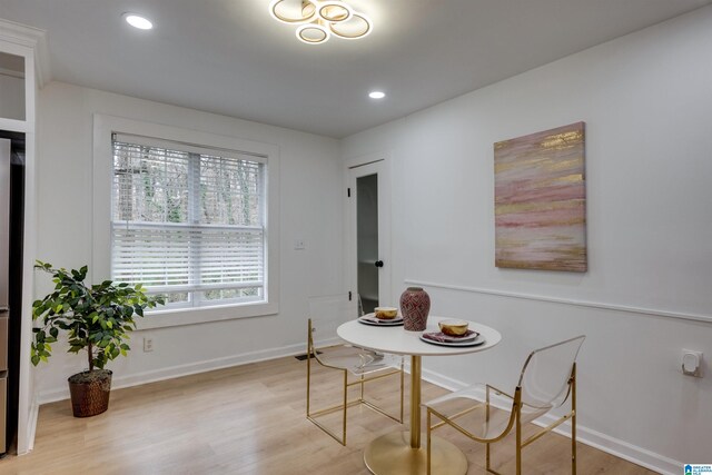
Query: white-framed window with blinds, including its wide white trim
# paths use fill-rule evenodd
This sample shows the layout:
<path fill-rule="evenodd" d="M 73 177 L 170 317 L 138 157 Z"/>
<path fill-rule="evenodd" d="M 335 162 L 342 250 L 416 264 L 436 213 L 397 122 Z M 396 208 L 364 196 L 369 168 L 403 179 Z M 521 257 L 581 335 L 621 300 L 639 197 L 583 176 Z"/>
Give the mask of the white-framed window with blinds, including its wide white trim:
<path fill-rule="evenodd" d="M 95 113 L 92 148 L 91 281 L 168 296 L 140 329 L 279 311 L 278 146 Z"/>

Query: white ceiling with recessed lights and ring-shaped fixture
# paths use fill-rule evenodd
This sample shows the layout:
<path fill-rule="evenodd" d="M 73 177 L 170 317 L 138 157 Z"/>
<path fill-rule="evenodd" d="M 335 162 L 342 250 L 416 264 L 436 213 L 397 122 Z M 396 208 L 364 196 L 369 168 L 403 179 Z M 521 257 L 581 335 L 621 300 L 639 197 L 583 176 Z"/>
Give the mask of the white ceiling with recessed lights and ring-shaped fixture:
<path fill-rule="evenodd" d="M 374 32 L 320 46 L 269 0 L 0 0 L 0 18 L 47 30 L 52 79 L 340 138 L 711 2 L 352 0 Z"/>

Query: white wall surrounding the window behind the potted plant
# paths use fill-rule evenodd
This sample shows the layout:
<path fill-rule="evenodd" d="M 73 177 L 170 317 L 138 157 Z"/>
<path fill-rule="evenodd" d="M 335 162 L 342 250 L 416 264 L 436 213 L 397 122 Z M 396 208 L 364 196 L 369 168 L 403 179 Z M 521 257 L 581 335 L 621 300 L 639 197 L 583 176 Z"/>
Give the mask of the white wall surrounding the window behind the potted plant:
<path fill-rule="evenodd" d="M 279 314 L 136 331 L 129 357 L 109 366 L 115 387 L 304 352 L 307 297 L 343 287 L 338 141 L 52 82 L 39 96 L 37 258 L 56 266 L 92 265 L 93 113 L 273 144 L 280 156 Z M 296 238 L 305 250 L 294 250 Z M 49 280 L 37 275 L 38 296 L 51 290 Z M 152 353 L 142 352 L 145 334 L 154 338 Z M 67 397 L 67 377 L 83 368 L 83 357 L 55 348 L 38 372 L 40 400 Z"/>

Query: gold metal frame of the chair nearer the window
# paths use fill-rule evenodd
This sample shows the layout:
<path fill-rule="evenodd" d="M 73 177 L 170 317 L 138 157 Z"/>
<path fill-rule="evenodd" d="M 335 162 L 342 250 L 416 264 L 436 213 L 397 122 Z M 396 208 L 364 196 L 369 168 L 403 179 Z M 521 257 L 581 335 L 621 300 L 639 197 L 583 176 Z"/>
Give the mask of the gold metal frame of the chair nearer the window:
<path fill-rule="evenodd" d="M 364 353 L 373 353 L 369 350 L 364 349 Z M 344 394 L 343 394 L 343 402 L 340 404 L 334 405 L 334 406 L 329 406 L 329 407 L 325 407 L 318 410 L 312 410 L 312 359 L 315 359 L 320 366 L 325 367 L 325 368 L 329 368 L 329 369 L 335 369 L 338 372 L 343 373 L 343 380 L 344 380 Z M 366 366 L 367 368 L 367 366 Z M 339 366 L 334 366 L 334 365 L 329 365 L 326 362 L 323 362 L 322 358 L 319 358 L 319 353 L 317 352 L 317 348 L 314 345 L 314 330 L 313 330 L 313 326 L 312 326 L 312 319 L 309 318 L 309 323 L 308 323 L 308 336 L 307 336 L 307 419 L 309 419 L 312 423 L 314 423 L 317 427 L 319 427 L 322 431 L 324 431 L 325 433 L 327 433 L 328 435 L 330 435 L 336 442 L 338 442 L 342 445 L 346 445 L 346 420 L 347 420 L 347 409 L 348 407 L 358 405 L 358 404 L 363 404 L 364 406 L 375 410 L 376 413 L 383 414 L 384 416 L 388 417 L 392 420 L 395 420 L 399 424 L 403 424 L 403 393 L 404 393 L 404 370 L 403 370 L 403 359 L 400 360 L 400 365 L 399 367 L 392 367 L 392 366 L 384 366 L 382 368 L 374 368 L 370 373 L 376 373 L 373 376 L 368 376 L 365 374 L 362 375 L 356 375 L 358 376 L 358 379 L 356 380 L 352 380 L 349 382 L 348 378 L 348 373 L 349 369 L 348 368 L 344 368 L 344 367 L 339 367 Z M 385 409 L 378 407 L 376 404 L 367 400 L 365 398 L 365 392 L 364 392 L 364 385 L 366 383 L 370 383 L 373 380 L 377 380 L 377 379 L 383 379 L 385 377 L 388 376 L 394 376 L 394 375 L 400 375 L 400 413 L 398 416 L 394 416 L 392 414 L 388 414 Z M 358 398 L 354 399 L 354 400 L 348 400 L 348 389 L 353 386 L 359 386 L 360 390 L 359 390 L 359 395 Z M 339 437 L 339 435 L 337 433 L 335 433 L 334 431 L 329 429 L 328 427 L 326 427 L 324 424 L 322 424 L 319 420 L 316 419 L 316 417 L 319 416 L 324 416 L 327 414 L 332 414 L 338 410 L 343 410 L 343 416 L 342 416 L 342 435 Z"/>

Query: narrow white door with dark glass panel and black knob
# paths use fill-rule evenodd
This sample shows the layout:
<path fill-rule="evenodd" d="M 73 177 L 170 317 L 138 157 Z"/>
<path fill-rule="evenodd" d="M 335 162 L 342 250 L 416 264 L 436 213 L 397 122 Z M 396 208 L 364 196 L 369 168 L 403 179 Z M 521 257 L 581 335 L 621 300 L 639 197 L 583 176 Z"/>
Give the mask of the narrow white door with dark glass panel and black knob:
<path fill-rule="evenodd" d="M 395 306 L 390 293 L 390 182 L 380 158 L 350 165 L 348 174 L 349 291 L 360 297 L 364 313 Z"/>

